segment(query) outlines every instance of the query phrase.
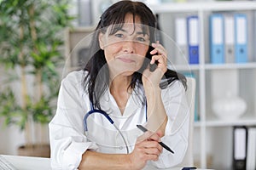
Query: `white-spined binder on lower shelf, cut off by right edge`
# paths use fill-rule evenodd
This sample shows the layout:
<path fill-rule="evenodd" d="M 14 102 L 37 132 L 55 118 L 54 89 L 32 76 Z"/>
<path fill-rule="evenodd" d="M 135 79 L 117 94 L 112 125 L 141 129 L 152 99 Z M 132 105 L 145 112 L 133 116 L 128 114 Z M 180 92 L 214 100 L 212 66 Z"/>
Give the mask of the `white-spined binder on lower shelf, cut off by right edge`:
<path fill-rule="evenodd" d="M 248 127 L 247 170 L 256 169 L 256 127 Z"/>

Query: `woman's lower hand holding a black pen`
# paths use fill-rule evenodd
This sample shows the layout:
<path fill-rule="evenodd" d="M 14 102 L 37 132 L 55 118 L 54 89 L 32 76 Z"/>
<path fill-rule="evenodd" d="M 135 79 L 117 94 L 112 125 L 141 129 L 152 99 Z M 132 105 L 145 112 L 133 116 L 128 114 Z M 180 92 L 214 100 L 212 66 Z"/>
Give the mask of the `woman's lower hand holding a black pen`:
<path fill-rule="evenodd" d="M 134 150 L 129 154 L 131 169 L 142 169 L 147 161 L 157 161 L 163 148 L 159 144 L 160 132 L 146 132 L 137 139 Z"/>

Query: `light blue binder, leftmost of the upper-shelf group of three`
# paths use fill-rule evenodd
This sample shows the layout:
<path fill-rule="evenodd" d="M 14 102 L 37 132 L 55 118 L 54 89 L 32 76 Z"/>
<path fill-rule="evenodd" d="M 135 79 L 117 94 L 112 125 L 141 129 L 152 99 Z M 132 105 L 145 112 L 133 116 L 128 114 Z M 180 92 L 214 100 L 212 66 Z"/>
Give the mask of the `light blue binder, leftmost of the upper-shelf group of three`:
<path fill-rule="evenodd" d="M 224 17 L 210 15 L 210 56 L 212 64 L 224 64 Z"/>

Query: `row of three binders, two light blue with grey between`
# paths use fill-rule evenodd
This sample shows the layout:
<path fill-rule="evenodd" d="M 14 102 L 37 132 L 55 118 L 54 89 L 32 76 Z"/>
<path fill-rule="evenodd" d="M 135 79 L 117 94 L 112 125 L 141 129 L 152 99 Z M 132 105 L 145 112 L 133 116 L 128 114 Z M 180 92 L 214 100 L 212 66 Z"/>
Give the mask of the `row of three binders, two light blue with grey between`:
<path fill-rule="evenodd" d="M 211 63 L 246 63 L 247 15 L 211 14 L 209 25 Z"/>

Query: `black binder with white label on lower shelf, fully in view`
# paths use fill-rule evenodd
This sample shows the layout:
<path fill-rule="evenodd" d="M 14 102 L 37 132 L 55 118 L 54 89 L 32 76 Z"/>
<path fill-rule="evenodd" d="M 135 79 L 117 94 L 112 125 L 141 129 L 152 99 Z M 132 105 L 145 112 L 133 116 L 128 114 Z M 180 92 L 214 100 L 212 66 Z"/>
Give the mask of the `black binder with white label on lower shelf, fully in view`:
<path fill-rule="evenodd" d="M 233 170 L 245 170 L 247 164 L 247 127 L 233 129 Z"/>

